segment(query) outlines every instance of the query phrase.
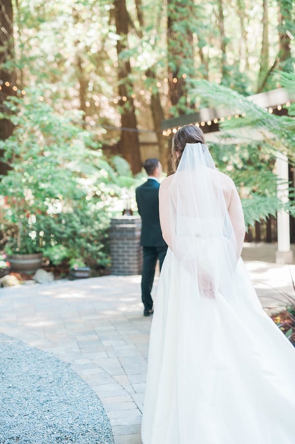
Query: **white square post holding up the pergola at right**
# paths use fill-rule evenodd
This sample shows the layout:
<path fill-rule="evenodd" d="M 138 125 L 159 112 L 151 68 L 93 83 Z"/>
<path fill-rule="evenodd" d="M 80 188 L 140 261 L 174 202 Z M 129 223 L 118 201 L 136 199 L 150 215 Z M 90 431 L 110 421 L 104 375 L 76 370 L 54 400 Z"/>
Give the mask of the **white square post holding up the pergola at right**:
<path fill-rule="evenodd" d="M 283 202 L 289 200 L 289 174 L 288 157 L 281 152 L 277 153 L 276 173 L 278 177 L 277 196 Z M 293 252 L 290 249 L 290 220 L 289 212 L 278 211 L 278 250 L 276 252 L 277 263 L 293 263 Z"/>

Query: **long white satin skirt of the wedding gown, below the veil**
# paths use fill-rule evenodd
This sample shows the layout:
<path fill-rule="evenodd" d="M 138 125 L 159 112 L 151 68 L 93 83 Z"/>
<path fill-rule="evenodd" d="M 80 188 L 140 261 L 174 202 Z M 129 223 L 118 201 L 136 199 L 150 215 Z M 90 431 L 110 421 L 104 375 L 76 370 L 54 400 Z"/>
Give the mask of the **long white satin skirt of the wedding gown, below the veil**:
<path fill-rule="evenodd" d="M 295 444 L 295 348 L 242 259 L 234 297 L 196 297 L 168 249 L 152 320 L 143 444 Z"/>

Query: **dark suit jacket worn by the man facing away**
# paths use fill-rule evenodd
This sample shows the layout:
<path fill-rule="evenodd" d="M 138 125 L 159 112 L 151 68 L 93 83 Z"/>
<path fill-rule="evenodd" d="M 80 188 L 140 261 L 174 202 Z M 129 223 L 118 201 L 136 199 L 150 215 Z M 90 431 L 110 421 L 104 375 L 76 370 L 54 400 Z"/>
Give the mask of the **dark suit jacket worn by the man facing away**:
<path fill-rule="evenodd" d="M 135 190 L 138 212 L 142 218 L 141 245 L 143 247 L 165 247 L 159 218 L 159 187 L 154 179 Z"/>

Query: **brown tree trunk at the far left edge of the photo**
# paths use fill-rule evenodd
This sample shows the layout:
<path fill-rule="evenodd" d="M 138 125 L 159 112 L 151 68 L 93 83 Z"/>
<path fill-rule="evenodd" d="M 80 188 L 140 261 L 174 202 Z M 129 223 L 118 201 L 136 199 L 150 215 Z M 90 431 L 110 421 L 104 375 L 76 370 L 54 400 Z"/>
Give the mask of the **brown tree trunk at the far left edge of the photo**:
<path fill-rule="evenodd" d="M 0 1 L 0 111 L 7 111 L 3 102 L 7 96 L 14 95 L 15 72 L 8 69 L 6 63 L 13 57 L 13 9 L 11 0 Z M 12 134 L 13 125 L 10 120 L 0 120 L 0 139 L 5 140 Z M 0 153 L 1 155 L 2 153 Z M 6 174 L 8 166 L 0 162 L 0 174 Z"/>

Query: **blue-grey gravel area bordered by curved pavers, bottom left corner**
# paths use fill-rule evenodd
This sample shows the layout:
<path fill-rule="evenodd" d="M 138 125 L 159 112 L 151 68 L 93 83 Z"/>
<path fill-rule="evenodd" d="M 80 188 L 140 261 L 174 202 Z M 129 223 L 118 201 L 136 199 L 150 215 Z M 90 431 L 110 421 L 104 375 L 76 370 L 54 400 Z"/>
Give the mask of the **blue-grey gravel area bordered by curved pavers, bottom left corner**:
<path fill-rule="evenodd" d="M 100 400 L 70 366 L 0 334 L 0 444 L 113 444 Z"/>

